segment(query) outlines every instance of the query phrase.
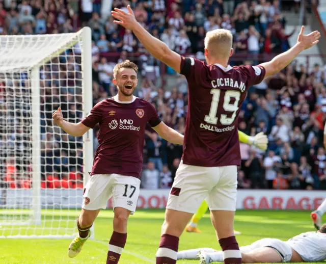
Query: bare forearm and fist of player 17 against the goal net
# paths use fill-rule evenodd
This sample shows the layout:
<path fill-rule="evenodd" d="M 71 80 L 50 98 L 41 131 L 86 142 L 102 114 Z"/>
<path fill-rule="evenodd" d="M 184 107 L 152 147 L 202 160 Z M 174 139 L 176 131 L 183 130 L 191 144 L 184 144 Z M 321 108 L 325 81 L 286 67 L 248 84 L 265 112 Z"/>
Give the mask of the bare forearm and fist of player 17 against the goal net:
<path fill-rule="evenodd" d="M 81 137 L 90 129 L 82 122 L 74 124 L 64 120 L 61 113 L 61 108 L 58 108 L 58 110 L 53 113 L 52 118 L 55 123 L 59 125 L 66 133 L 74 137 Z"/>

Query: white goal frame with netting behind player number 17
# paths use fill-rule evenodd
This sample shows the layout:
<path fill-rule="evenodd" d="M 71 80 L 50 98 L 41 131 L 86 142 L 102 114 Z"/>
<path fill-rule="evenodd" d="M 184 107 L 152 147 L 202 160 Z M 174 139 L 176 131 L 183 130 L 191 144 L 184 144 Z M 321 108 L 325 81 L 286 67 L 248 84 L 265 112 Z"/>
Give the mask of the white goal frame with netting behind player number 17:
<path fill-rule="evenodd" d="M 0 36 L 0 238 L 70 237 L 93 161 L 92 130 L 66 134 L 92 108 L 91 30 Z"/>

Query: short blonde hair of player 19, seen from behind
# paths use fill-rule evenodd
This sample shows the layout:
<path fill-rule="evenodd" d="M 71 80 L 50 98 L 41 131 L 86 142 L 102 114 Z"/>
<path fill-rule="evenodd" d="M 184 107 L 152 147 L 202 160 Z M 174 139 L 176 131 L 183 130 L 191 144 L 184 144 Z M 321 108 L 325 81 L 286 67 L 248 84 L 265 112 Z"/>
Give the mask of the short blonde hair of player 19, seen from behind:
<path fill-rule="evenodd" d="M 208 31 L 205 37 L 205 48 L 213 57 L 229 57 L 233 36 L 229 30 L 216 29 Z"/>

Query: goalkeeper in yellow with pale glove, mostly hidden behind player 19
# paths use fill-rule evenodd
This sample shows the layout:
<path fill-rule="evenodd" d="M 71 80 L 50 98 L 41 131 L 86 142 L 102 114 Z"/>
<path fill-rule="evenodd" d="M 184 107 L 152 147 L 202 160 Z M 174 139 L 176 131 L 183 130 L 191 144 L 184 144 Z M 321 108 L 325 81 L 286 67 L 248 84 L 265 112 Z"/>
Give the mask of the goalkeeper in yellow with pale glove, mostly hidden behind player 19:
<path fill-rule="evenodd" d="M 267 149 L 268 139 L 267 136 L 264 135 L 262 132 L 258 133 L 255 137 L 250 137 L 243 132 L 239 131 L 239 140 L 240 142 L 247 143 L 248 145 L 256 146 L 262 150 Z M 204 200 L 202 204 L 199 206 L 197 213 L 193 216 L 191 222 L 186 226 L 185 230 L 187 232 L 197 232 L 200 233 L 201 231 L 197 228 L 199 220 L 203 217 L 208 209 L 207 202 Z M 238 231 L 234 231 L 234 234 L 241 234 Z"/>

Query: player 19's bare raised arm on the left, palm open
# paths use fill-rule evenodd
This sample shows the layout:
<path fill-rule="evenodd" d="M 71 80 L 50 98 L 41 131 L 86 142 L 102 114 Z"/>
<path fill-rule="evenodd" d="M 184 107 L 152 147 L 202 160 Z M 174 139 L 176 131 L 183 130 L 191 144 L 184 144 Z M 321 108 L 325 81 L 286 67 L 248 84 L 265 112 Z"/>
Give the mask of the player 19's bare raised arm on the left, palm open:
<path fill-rule="evenodd" d="M 127 9 L 128 13 L 119 8 L 115 8 L 115 11 L 111 11 L 112 16 L 119 20 L 115 20 L 114 22 L 131 30 L 153 57 L 170 66 L 176 72 L 180 72 L 180 55 L 171 50 L 167 44 L 149 34 L 142 25 L 137 22 L 129 5 Z"/>

